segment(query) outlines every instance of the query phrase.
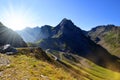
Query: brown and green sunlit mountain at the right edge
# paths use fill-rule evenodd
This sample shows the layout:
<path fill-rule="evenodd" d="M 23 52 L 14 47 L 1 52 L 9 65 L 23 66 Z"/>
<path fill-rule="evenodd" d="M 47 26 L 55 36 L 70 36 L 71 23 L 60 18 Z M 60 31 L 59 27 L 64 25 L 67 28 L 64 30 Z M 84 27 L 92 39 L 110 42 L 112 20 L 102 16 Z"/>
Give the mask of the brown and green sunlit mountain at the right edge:
<path fill-rule="evenodd" d="M 95 43 L 106 48 L 112 55 L 120 57 L 120 27 L 115 25 L 97 26 L 87 32 Z"/>

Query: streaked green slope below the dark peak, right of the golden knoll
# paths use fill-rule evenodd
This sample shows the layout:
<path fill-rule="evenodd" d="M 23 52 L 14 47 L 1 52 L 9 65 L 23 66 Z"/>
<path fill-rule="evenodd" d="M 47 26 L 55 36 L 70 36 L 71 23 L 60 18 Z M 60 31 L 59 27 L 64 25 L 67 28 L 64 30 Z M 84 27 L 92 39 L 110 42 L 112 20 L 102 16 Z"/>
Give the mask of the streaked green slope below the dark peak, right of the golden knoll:
<path fill-rule="evenodd" d="M 63 53 L 59 56 L 60 60 L 79 74 L 83 80 L 120 80 L 120 73 L 97 66 L 85 58 L 71 54 L 72 57 L 68 59 Z"/>

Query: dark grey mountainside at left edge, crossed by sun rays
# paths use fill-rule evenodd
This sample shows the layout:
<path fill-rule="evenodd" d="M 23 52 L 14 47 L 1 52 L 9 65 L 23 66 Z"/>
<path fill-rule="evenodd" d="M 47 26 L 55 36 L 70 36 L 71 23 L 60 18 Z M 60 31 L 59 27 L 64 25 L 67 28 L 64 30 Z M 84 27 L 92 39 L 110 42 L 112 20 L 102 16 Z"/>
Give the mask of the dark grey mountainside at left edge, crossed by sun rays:
<path fill-rule="evenodd" d="M 10 44 L 13 47 L 26 47 L 23 39 L 13 30 L 0 23 L 0 46 Z"/>

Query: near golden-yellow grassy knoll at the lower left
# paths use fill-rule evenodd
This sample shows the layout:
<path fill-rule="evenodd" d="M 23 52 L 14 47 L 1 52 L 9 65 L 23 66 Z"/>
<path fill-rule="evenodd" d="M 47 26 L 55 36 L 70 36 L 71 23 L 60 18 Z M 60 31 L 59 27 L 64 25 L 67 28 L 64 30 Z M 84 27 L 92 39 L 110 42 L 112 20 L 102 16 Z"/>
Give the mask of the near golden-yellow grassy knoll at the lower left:
<path fill-rule="evenodd" d="M 21 51 L 24 53 L 28 50 Z M 11 56 L 0 54 L 0 57 L 10 60 L 10 64 L 0 66 L 0 80 L 76 80 L 63 68 L 43 59 L 36 59 L 35 55 L 29 56 L 30 53 L 21 53 Z"/>

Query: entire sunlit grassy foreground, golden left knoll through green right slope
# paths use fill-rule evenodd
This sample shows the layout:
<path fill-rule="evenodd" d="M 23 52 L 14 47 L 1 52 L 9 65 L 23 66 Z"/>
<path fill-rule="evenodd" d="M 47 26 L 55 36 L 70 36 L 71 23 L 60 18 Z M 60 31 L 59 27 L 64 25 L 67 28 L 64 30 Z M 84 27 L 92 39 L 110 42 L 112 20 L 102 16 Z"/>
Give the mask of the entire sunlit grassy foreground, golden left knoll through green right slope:
<path fill-rule="evenodd" d="M 38 49 L 18 49 L 17 55 L 0 54 L 10 60 L 0 66 L 0 80 L 120 80 L 120 73 L 102 68 L 85 58 L 55 52 L 59 60 Z M 59 55 L 58 55 L 59 53 Z"/>

